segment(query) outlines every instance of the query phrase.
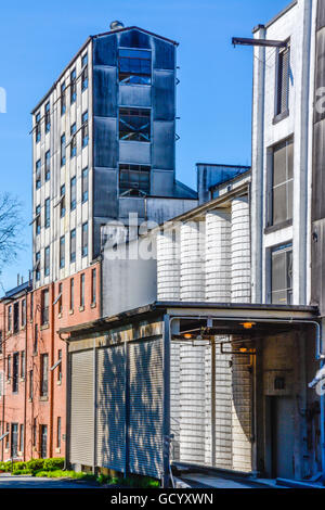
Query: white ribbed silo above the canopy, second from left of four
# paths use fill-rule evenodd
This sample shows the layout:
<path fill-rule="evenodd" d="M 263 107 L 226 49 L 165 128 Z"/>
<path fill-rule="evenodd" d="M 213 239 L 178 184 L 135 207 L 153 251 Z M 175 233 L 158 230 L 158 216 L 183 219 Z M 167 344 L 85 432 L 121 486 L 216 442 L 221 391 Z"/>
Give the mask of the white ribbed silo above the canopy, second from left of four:
<path fill-rule="evenodd" d="M 204 225 L 188 221 L 181 226 L 181 301 L 205 299 Z"/>

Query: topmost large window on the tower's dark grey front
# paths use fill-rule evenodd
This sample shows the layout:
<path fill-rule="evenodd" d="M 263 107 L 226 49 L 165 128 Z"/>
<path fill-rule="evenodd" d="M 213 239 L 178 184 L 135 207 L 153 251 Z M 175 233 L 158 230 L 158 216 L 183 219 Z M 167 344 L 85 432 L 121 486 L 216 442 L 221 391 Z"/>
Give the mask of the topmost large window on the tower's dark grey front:
<path fill-rule="evenodd" d="M 121 84 L 151 85 L 151 51 L 120 48 L 118 56 L 119 81 Z"/>

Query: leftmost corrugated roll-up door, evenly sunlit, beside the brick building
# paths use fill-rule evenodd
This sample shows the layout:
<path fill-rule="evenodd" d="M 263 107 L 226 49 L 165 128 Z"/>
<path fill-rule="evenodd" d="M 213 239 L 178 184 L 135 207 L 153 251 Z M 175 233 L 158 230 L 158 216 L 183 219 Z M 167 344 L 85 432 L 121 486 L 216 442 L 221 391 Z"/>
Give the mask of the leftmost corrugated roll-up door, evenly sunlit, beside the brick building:
<path fill-rule="evenodd" d="M 93 464 L 93 350 L 72 353 L 70 462 Z"/>

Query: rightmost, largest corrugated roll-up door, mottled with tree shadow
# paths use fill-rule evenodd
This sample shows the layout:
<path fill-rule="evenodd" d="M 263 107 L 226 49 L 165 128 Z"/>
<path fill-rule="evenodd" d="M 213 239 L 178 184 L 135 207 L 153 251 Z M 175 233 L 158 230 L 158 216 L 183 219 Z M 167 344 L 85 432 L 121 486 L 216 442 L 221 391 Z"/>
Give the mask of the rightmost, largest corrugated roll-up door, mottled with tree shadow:
<path fill-rule="evenodd" d="M 129 345 L 129 470 L 162 473 L 162 340 Z"/>

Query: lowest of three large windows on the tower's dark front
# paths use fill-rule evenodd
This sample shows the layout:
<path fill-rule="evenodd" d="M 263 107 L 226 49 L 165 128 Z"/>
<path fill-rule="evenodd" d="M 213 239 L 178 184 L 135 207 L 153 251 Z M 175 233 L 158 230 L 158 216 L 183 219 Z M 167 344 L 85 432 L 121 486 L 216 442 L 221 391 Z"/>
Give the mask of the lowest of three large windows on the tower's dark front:
<path fill-rule="evenodd" d="M 119 193 L 150 194 L 151 167 L 143 165 L 119 165 Z"/>

